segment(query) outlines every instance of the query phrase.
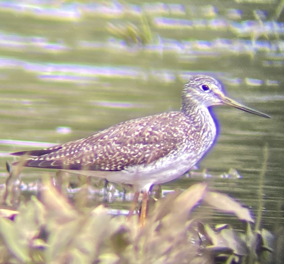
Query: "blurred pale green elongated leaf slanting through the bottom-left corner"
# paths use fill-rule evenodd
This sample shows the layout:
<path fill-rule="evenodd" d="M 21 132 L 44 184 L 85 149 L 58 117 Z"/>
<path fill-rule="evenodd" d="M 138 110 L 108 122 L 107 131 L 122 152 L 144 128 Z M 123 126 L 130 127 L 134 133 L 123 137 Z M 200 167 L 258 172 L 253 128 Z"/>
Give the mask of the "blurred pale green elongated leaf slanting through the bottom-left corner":
<path fill-rule="evenodd" d="M 29 262 L 28 242 L 20 239 L 15 223 L 6 218 L 0 218 L 0 235 L 8 250 L 21 262 Z"/>

